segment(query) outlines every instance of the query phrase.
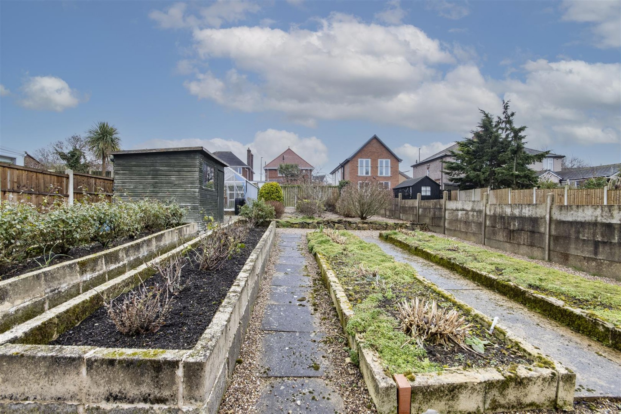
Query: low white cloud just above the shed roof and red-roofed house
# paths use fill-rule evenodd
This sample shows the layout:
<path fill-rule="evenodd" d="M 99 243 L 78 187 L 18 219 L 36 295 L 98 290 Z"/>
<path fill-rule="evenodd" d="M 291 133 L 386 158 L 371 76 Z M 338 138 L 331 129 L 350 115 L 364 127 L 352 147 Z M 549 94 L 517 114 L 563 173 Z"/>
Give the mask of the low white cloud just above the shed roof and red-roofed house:
<path fill-rule="evenodd" d="M 328 160 L 328 149 L 324 142 L 317 137 L 300 137 L 294 132 L 278 129 L 266 129 L 258 131 L 252 142 L 243 144 L 232 139 L 151 139 L 135 145 L 135 148 L 171 148 L 171 147 L 195 147 L 202 146 L 209 151 L 231 151 L 240 160 L 246 160 L 246 149 L 250 148 L 255 155 L 253 166 L 258 180 L 261 157 L 264 162 L 270 162 L 281 152 L 291 147 L 296 154 L 300 155 L 315 168 L 324 167 Z"/>

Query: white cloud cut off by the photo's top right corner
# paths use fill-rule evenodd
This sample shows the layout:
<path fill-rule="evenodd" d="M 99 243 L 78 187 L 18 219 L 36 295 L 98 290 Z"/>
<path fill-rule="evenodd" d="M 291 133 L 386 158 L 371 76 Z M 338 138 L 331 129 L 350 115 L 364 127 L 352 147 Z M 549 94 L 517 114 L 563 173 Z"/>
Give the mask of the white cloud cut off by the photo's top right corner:
<path fill-rule="evenodd" d="M 565 0 L 562 8 L 564 21 L 592 24 L 597 47 L 621 47 L 621 2 Z"/>

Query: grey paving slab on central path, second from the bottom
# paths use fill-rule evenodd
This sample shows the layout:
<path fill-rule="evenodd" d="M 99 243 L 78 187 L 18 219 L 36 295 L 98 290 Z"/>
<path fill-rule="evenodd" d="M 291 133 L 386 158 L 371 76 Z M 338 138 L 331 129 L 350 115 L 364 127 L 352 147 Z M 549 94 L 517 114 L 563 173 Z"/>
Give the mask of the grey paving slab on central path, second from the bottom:
<path fill-rule="evenodd" d="M 262 340 L 260 372 L 265 377 L 321 377 L 324 353 L 319 334 L 272 332 Z"/>

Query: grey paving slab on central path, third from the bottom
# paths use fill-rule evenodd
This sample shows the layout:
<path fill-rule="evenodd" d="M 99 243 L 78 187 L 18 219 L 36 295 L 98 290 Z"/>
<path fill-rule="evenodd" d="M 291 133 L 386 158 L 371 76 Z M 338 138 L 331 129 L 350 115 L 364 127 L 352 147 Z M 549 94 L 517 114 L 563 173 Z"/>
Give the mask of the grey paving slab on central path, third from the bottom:
<path fill-rule="evenodd" d="M 311 308 L 305 303 L 299 305 L 266 305 L 261 321 L 263 331 L 313 332 L 315 325 Z"/>

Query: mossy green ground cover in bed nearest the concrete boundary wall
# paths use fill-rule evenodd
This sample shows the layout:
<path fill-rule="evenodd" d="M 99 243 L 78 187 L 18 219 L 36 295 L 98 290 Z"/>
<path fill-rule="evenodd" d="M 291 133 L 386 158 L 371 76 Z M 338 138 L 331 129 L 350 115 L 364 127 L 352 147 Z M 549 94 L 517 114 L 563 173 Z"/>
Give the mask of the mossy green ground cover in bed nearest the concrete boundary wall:
<path fill-rule="evenodd" d="M 383 237 L 387 236 L 406 242 L 409 246 L 420 247 L 469 269 L 493 275 L 499 280 L 560 299 L 568 306 L 587 311 L 617 327 L 621 326 L 621 287 L 618 285 L 589 280 L 455 239 L 433 236 L 428 232 L 383 233 Z"/>

